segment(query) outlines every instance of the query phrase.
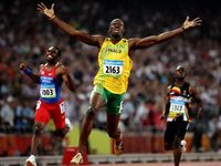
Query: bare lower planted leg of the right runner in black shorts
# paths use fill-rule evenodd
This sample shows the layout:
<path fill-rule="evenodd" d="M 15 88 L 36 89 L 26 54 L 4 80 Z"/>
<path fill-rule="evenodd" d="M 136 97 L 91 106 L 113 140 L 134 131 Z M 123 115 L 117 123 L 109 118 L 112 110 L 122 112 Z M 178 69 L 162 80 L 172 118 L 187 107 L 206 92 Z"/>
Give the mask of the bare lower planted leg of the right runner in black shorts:
<path fill-rule="evenodd" d="M 178 136 L 175 136 L 175 149 L 173 149 L 175 166 L 179 166 L 181 154 L 182 154 L 180 143 L 181 143 L 181 138 L 179 138 Z"/>

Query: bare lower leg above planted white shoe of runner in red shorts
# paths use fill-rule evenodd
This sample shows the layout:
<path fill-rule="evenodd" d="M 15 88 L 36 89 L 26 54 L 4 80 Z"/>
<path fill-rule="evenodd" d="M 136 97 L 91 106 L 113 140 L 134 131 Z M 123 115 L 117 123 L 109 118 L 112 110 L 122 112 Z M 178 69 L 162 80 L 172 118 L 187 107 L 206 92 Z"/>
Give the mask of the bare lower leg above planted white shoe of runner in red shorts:
<path fill-rule="evenodd" d="M 35 155 L 35 153 L 36 153 L 36 148 L 40 144 L 42 132 L 43 132 L 44 127 L 45 127 L 44 123 L 36 122 L 34 124 L 34 133 L 32 136 L 32 143 L 31 143 L 31 155 Z"/>

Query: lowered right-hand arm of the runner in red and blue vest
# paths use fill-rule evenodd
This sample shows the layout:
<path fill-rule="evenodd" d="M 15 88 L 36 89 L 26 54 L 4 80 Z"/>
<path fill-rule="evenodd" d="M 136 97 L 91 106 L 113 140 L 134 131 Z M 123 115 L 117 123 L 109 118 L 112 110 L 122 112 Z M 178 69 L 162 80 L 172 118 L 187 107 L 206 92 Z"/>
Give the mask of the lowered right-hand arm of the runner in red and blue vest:
<path fill-rule="evenodd" d="M 75 92 L 76 87 L 74 84 L 74 81 L 72 80 L 72 76 L 70 75 L 70 71 L 65 66 L 61 66 L 61 73 L 62 73 L 62 79 L 66 86 L 70 89 L 70 91 Z"/>

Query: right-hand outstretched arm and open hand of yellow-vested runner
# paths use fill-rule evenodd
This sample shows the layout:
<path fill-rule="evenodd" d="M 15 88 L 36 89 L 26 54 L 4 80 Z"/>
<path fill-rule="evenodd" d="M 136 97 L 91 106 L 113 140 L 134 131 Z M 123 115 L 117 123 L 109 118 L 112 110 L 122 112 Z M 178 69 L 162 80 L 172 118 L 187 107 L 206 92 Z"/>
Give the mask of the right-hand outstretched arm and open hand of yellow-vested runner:
<path fill-rule="evenodd" d="M 130 49 L 141 49 L 141 48 L 147 48 L 147 46 L 164 42 L 173 37 L 177 37 L 178 34 L 180 34 L 191 28 L 200 25 L 201 22 L 202 22 L 202 20 L 200 18 L 196 18 L 192 21 L 189 21 L 189 17 L 187 17 L 182 27 L 180 27 L 176 30 L 164 32 L 158 35 L 150 35 L 150 37 L 143 38 L 143 39 L 140 39 L 140 38 L 130 39 Z"/>

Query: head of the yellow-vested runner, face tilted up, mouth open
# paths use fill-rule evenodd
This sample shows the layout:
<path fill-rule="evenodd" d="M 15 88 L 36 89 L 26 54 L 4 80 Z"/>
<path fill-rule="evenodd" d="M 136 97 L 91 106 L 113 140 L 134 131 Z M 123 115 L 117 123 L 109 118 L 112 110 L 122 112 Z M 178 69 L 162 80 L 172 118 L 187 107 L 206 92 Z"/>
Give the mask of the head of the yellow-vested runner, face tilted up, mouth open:
<path fill-rule="evenodd" d="M 108 30 L 110 37 L 114 38 L 122 38 L 124 33 L 124 22 L 120 19 L 114 19 L 109 23 L 109 30 Z"/>

